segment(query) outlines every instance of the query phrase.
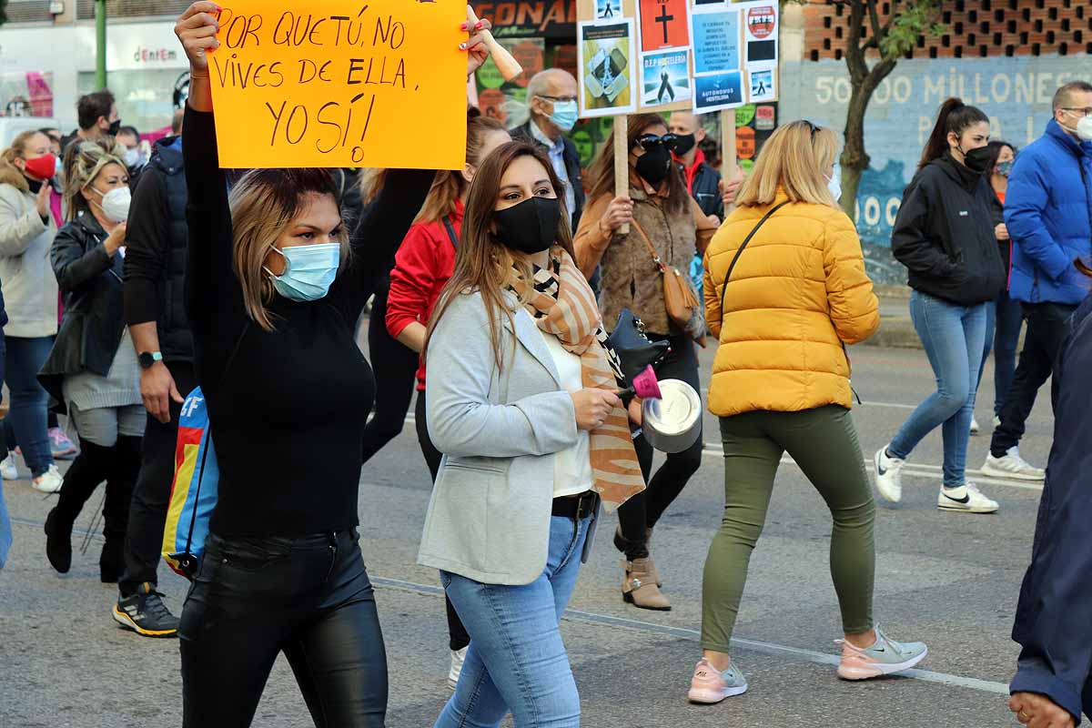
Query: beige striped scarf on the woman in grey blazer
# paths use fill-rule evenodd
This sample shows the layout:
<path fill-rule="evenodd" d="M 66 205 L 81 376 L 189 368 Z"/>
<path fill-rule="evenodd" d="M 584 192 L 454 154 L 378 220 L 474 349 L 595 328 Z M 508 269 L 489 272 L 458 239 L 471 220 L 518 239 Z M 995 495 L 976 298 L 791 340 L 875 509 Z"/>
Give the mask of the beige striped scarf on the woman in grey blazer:
<path fill-rule="evenodd" d="M 621 365 L 606 344 L 595 294 L 565 249 L 555 246 L 549 266 L 534 267 L 534 285 L 530 289 L 513 268 L 510 288 L 521 300 L 526 300 L 527 312 L 539 330 L 557 336 L 565 350 L 580 357 L 585 387 L 618 389 Z M 644 490 L 625 407 L 615 407 L 603 426 L 589 435 L 593 488 L 610 512 Z"/>

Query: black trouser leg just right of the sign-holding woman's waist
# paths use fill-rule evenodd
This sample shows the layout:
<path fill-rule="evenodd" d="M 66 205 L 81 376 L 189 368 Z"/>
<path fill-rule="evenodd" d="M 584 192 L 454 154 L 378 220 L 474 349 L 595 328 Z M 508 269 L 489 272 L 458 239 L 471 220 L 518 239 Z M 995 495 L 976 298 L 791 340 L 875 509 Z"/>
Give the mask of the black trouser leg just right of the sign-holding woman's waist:
<path fill-rule="evenodd" d="M 376 372 L 376 411 L 364 428 L 365 463 L 402 432 L 417 381 L 417 353 L 387 331 L 385 289 L 371 303 L 368 360 Z"/>

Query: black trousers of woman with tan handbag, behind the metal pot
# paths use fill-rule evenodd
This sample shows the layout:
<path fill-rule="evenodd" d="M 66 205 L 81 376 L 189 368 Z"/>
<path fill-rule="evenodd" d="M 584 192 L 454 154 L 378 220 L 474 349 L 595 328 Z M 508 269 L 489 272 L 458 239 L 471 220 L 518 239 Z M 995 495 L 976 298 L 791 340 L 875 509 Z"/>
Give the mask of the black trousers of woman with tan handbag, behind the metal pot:
<path fill-rule="evenodd" d="M 672 351 L 656 368 L 656 378 L 680 379 L 697 392 L 701 392 L 701 381 L 698 377 L 698 353 L 695 343 L 686 334 L 664 336 L 646 334 L 654 342 L 666 341 L 672 345 Z M 699 395 L 700 396 L 700 395 Z M 652 473 L 653 449 L 643 435 L 633 440 L 637 458 L 641 464 L 641 474 L 649 487 L 633 496 L 618 508 L 618 523 L 626 541 L 626 558 L 643 559 L 649 556 L 646 529 L 660 521 L 667 506 L 678 498 L 690 477 L 701 467 L 701 435 L 689 449 L 680 453 L 669 453 L 656 474 Z"/>

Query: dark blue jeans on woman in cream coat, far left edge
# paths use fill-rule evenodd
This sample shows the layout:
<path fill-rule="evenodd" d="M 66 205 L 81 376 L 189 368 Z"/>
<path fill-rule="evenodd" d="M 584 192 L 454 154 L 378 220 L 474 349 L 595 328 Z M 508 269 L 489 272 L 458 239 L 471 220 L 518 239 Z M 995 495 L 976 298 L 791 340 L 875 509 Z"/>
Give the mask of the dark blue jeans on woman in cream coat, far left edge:
<path fill-rule="evenodd" d="M 4 354 L 8 389 L 11 390 L 11 411 L 4 418 L 4 431 L 9 445 L 17 444 L 23 449 L 23 460 L 35 478 L 54 464 L 46 426 L 49 395 L 38 383 L 38 372 L 52 346 L 52 336 L 9 336 Z"/>

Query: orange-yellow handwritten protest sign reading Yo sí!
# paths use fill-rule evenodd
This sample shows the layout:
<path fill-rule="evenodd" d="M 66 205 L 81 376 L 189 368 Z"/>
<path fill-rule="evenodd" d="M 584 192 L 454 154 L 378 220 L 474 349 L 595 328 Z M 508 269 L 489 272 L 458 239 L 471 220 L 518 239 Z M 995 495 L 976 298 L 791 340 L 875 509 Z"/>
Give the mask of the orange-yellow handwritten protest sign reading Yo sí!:
<path fill-rule="evenodd" d="M 463 167 L 465 0 L 223 8 L 209 53 L 222 167 Z"/>

